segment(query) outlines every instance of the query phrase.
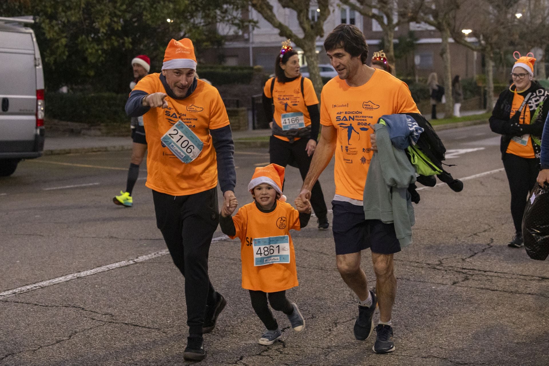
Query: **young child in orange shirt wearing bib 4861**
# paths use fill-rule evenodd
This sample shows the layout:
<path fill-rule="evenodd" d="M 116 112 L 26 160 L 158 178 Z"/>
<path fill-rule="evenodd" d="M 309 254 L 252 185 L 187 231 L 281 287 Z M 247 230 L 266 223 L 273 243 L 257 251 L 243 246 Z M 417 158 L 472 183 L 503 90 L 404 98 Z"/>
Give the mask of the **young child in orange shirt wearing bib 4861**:
<path fill-rule="evenodd" d="M 284 167 L 269 164 L 255 168 L 248 190 L 254 201 L 232 213 L 238 202 L 233 198 L 221 209 L 220 224 L 223 233 L 231 239 L 240 238 L 242 258 L 242 288 L 250 291 L 251 306 L 267 331 L 259 339 L 260 345 L 272 345 L 282 338 L 267 305 L 288 316 L 292 328 L 300 332 L 305 319 L 295 303 L 286 299 L 286 290 L 298 285 L 295 254 L 290 229 L 300 230 L 311 217 L 311 204 L 295 200 L 297 210 L 285 202 L 282 195 Z"/>

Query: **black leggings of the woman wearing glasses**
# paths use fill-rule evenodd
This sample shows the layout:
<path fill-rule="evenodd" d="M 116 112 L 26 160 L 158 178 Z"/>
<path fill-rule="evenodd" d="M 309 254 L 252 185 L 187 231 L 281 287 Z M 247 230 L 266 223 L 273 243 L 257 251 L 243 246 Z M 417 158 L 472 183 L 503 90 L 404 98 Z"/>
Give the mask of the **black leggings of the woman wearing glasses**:
<path fill-rule="evenodd" d="M 536 183 L 540 159 L 526 159 L 514 154 L 503 156 L 503 167 L 511 189 L 511 216 L 515 230 L 522 233 L 522 217 L 526 208 L 528 192 Z"/>

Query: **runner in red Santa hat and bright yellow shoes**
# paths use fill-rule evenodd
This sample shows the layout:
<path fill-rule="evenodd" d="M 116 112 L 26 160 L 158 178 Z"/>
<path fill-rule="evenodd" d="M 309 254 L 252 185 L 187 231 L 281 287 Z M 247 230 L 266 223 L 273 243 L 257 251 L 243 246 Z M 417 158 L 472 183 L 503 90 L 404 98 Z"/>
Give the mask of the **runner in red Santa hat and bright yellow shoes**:
<path fill-rule="evenodd" d="M 132 60 L 132 69 L 134 79 L 130 82 L 130 89 L 133 90 L 139 80 L 149 75 L 150 59 L 147 55 L 138 55 Z M 139 176 L 139 166 L 143 162 L 143 157 L 147 152 L 147 139 L 145 139 L 145 127 L 143 127 L 143 117 L 131 117 L 132 128 L 132 157 L 130 160 L 130 169 L 126 181 L 126 192 L 120 191 L 119 196 L 114 196 L 113 202 L 116 205 L 124 207 L 133 206 L 132 190 Z"/>

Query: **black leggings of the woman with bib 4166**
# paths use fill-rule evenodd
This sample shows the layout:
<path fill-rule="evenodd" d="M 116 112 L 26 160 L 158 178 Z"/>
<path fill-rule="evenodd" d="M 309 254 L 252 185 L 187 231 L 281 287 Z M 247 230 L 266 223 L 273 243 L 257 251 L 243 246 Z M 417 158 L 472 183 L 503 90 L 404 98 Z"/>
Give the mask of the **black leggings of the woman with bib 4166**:
<path fill-rule="evenodd" d="M 290 143 L 271 136 L 269 141 L 271 163 L 283 167 L 286 167 L 288 164 L 298 166 L 301 178 L 305 179 L 312 160 L 312 155 L 307 156 L 307 151 L 305 150 L 307 142 L 309 142 L 309 138 L 306 137 L 302 137 L 294 143 Z M 282 184 L 284 185 L 284 182 Z M 311 206 L 312 209 L 315 210 L 317 218 L 326 218 L 328 208 L 326 207 L 326 202 L 324 202 L 324 194 L 322 194 L 322 188 L 318 181 L 316 181 L 311 189 Z"/>

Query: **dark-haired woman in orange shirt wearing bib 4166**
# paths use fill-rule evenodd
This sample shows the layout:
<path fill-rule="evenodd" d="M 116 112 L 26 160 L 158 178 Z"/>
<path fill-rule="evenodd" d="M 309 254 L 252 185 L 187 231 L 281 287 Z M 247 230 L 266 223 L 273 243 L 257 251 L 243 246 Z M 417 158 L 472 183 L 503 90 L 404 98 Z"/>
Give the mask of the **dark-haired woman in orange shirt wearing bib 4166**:
<path fill-rule="evenodd" d="M 265 83 L 262 103 L 271 120 L 270 162 L 298 167 L 305 179 L 316 149 L 320 112 L 315 88 L 309 78 L 301 76 L 298 53 L 290 46 L 290 40 L 282 42 L 275 60 L 275 77 Z M 311 205 L 318 230 L 327 230 L 328 208 L 319 182 L 312 187 Z"/>

